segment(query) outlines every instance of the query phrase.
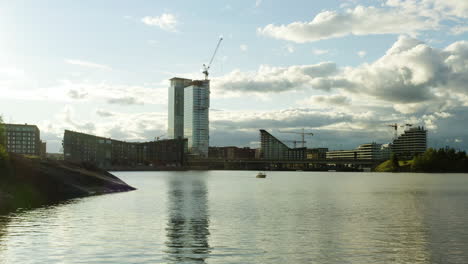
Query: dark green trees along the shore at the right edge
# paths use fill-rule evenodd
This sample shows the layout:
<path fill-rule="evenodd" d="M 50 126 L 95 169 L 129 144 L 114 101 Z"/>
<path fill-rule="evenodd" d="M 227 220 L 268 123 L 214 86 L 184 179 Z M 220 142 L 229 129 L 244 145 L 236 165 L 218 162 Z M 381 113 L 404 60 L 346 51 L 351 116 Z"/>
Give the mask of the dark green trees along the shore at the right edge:
<path fill-rule="evenodd" d="M 439 150 L 430 148 L 411 162 L 414 172 L 468 172 L 468 157 L 465 151 L 453 148 Z"/>

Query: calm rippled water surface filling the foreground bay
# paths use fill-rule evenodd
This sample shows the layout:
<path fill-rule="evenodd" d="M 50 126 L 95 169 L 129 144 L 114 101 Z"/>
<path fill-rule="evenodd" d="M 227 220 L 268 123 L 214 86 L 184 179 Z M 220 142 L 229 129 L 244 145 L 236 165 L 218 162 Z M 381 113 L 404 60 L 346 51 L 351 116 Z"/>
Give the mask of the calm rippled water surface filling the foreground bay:
<path fill-rule="evenodd" d="M 0 263 L 468 263 L 467 174 L 119 172 L 0 216 Z"/>

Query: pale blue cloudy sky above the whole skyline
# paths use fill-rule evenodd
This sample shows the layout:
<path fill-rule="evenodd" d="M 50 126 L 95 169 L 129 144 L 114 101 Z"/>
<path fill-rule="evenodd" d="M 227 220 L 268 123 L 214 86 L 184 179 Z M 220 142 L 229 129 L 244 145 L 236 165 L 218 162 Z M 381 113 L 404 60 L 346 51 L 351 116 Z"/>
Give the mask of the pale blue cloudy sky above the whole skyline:
<path fill-rule="evenodd" d="M 0 1 L 0 115 L 65 129 L 164 138 L 168 80 L 211 78 L 210 145 L 314 133 L 308 147 L 388 143 L 424 126 L 468 150 L 468 1 Z M 402 133 L 403 127 L 399 128 Z"/>

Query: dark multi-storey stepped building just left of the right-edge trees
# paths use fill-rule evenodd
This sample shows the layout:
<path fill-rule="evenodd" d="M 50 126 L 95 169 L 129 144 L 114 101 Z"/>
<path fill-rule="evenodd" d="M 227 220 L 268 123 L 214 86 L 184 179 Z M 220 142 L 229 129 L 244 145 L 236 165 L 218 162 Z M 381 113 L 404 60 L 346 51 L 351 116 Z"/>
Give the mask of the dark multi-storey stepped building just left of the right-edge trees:
<path fill-rule="evenodd" d="M 427 149 L 427 130 L 424 127 L 412 127 L 393 141 L 392 153 L 401 159 L 412 159 L 423 154 Z"/>

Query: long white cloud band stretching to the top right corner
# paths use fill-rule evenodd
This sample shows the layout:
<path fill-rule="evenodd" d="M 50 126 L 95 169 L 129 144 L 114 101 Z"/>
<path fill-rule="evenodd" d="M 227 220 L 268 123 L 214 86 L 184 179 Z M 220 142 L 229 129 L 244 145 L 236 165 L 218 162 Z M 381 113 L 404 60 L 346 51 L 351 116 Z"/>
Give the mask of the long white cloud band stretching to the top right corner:
<path fill-rule="evenodd" d="M 404 19 L 402 19 L 404 18 Z M 446 27 L 444 21 L 456 25 L 452 33 L 466 32 L 468 2 L 459 0 L 388 0 L 381 7 L 358 5 L 354 8 L 318 13 L 311 21 L 285 25 L 269 24 L 258 28 L 261 35 L 293 41 L 314 42 L 348 35 L 406 34 Z"/>

